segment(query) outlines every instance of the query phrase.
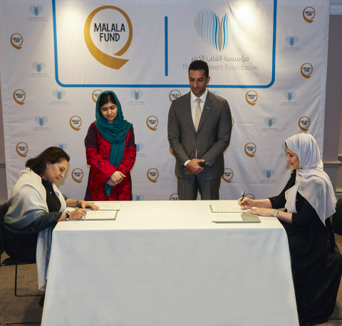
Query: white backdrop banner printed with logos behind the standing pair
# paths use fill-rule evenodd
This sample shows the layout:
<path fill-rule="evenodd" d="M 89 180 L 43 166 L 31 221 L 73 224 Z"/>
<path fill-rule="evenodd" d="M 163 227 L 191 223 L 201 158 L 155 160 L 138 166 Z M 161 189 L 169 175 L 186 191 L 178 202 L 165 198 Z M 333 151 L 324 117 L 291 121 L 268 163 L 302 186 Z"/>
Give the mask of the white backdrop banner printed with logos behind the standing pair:
<path fill-rule="evenodd" d="M 24 3 L 23 3 L 24 2 Z M 187 68 L 209 63 L 209 91 L 234 126 L 220 195 L 264 198 L 289 178 L 284 140 L 311 133 L 323 154 L 329 1 L 2 1 L 1 93 L 7 188 L 48 146 L 71 156 L 66 195 L 83 198 L 83 139 L 100 91 L 115 91 L 138 145 L 135 200 L 177 199 L 167 142 Z"/>

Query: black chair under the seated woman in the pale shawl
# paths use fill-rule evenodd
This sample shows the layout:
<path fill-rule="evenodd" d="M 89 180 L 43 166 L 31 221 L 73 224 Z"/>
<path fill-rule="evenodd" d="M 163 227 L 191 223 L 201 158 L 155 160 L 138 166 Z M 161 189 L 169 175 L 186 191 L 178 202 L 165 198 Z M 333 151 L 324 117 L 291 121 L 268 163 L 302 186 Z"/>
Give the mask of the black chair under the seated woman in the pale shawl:
<path fill-rule="evenodd" d="M 0 206 L 0 258 L 2 253 L 4 253 L 6 244 L 4 241 L 4 217 L 7 213 L 7 210 L 9 210 L 9 205 L 7 203 L 4 203 Z M 15 285 L 14 285 L 14 295 L 16 297 L 36 297 L 41 296 L 40 294 L 27 294 L 27 295 L 18 295 L 16 292 L 16 285 L 17 285 L 17 279 L 18 279 L 18 265 L 28 265 L 32 263 L 27 263 L 25 261 L 21 260 L 15 260 L 13 258 L 5 258 L 1 264 L 1 267 L 5 266 L 16 266 L 16 276 L 15 276 Z M 40 324 L 41 322 L 0 322 L 0 325 L 21 325 L 21 324 Z"/>

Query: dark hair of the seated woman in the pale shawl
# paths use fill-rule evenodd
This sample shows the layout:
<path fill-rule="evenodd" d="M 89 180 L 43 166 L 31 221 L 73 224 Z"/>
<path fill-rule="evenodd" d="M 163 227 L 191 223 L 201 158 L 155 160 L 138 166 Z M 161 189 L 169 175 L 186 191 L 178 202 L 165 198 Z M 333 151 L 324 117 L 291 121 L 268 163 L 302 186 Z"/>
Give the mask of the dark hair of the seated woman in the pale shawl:
<path fill-rule="evenodd" d="M 53 146 L 46 148 L 45 151 L 41 152 L 35 158 L 30 158 L 26 161 L 25 166 L 26 168 L 31 168 L 34 173 L 42 176 L 46 169 L 46 163 L 50 162 L 51 164 L 55 164 L 63 161 L 63 159 L 69 162 L 70 156 L 62 148 Z"/>

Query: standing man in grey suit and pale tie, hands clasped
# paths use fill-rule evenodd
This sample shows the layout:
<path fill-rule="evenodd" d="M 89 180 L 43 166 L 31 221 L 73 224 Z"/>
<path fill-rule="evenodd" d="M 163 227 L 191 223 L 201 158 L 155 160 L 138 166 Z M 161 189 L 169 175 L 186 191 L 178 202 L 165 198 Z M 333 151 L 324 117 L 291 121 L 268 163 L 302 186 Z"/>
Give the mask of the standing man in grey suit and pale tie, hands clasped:
<path fill-rule="evenodd" d="M 167 136 L 176 157 L 178 197 L 219 199 L 224 173 L 223 153 L 229 146 L 232 115 L 227 100 L 207 90 L 210 81 L 205 61 L 189 66 L 190 93 L 172 101 Z"/>

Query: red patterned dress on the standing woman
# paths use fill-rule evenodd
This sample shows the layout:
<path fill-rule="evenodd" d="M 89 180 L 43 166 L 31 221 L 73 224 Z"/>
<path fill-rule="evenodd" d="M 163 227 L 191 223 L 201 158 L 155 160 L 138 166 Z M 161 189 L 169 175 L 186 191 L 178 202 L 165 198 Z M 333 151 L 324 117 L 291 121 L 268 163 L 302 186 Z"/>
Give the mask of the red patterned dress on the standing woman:
<path fill-rule="evenodd" d="M 100 136 L 95 123 L 88 129 L 84 140 L 86 145 L 87 163 L 90 165 L 88 186 L 84 200 L 132 200 L 132 180 L 130 169 L 137 155 L 133 127 L 126 136 L 123 161 L 118 167 L 109 163 L 110 142 Z M 123 182 L 115 185 L 109 196 L 105 195 L 105 182 L 116 170 L 126 175 Z"/>

